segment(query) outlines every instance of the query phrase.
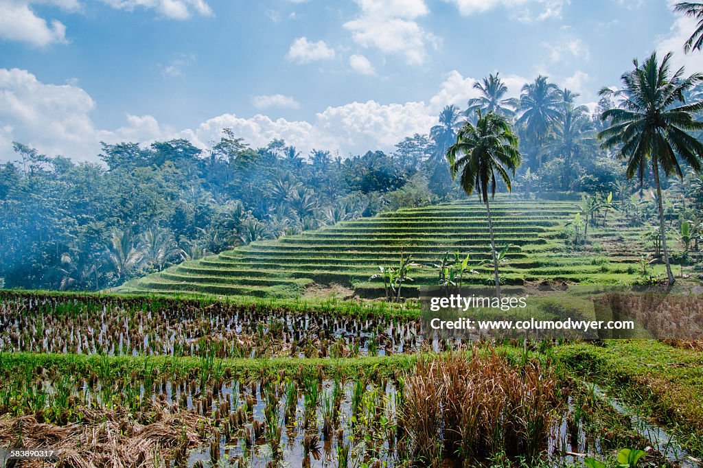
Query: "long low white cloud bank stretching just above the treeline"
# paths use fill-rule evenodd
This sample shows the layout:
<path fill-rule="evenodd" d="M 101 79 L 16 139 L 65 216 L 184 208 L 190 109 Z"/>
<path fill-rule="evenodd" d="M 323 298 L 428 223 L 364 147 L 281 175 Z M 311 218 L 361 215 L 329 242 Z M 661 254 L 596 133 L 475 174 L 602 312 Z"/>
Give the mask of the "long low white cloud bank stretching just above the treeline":
<path fill-rule="evenodd" d="M 525 80 L 516 75 L 501 78 L 511 93 L 519 93 Z M 328 107 L 305 120 L 271 119 L 266 115 L 240 117 L 226 113 L 186 129 L 173 129 L 151 115 L 127 115 L 118 129 L 98 129 L 91 118 L 96 103 L 86 91 L 69 84 L 40 82 L 26 70 L 0 69 L 0 160 L 13 160 L 11 141 L 20 141 L 48 155 L 66 155 L 75 160 L 96 160 L 100 141 L 151 143 L 169 138 L 188 138 L 200 148 L 217 141 L 224 128 L 245 138 L 252 146 L 264 146 L 283 138 L 299 150 L 340 150 L 342 155 L 367 150 L 391 152 L 395 143 L 415 133 L 427 134 L 437 124 L 444 105 L 464 108 L 476 96 L 475 82 L 459 72 L 447 74 L 434 96 L 426 101 L 378 103 L 375 100 Z M 515 84 L 515 86 L 513 86 Z M 517 88 L 517 89 L 515 89 Z M 287 96 L 257 96 L 262 107 L 291 104 Z"/>

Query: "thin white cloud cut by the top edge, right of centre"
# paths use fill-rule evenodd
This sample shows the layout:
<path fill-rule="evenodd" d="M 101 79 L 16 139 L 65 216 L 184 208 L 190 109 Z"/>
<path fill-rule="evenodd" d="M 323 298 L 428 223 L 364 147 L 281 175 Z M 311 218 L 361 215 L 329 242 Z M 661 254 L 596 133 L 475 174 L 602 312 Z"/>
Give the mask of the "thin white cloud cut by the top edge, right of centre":
<path fill-rule="evenodd" d="M 455 4 L 462 15 L 485 13 L 493 8 L 504 7 L 517 20 L 534 21 L 560 18 L 562 8 L 571 0 L 445 0 Z"/>

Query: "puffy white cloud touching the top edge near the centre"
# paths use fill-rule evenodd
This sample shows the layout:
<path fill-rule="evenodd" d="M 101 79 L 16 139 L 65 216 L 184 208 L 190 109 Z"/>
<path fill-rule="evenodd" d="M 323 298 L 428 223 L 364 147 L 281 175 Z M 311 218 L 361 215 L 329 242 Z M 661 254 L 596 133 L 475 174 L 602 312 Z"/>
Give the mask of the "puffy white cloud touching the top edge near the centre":
<path fill-rule="evenodd" d="M 425 61 L 426 46 L 437 46 L 439 39 L 423 30 L 415 19 L 427 15 L 423 0 L 356 0 L 361 16 L 344 23 L 352 39 L 363 47 L 405 56 L 406 63 Z"/>

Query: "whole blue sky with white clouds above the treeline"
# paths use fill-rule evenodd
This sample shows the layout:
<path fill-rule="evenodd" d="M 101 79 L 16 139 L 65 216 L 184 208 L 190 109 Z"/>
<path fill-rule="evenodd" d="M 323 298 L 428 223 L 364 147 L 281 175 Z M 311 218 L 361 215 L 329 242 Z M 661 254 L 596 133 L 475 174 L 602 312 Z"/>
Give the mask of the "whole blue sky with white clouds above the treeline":
<path fill-rule="evenodd" d="M 100 142 L 231 128 L 257 148 L 392 152 L 500 72 L 593 107 L 633 58 L 683 54 L 671 0 L 0 0 L 0 161 L 12 142 L 98 161 Z"/>

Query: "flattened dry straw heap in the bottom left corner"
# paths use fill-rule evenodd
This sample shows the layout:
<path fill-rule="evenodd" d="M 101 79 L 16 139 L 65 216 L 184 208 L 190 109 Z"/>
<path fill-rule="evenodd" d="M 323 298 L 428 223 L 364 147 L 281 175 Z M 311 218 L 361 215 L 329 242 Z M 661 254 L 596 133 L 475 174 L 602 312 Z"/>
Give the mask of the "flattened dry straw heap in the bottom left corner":
<path fill-rule="evenodd" d="M 54 426 L 33 416 L 0 417 L 0 443 L 13 448 L 56 450 L 59 467 L 141 468 L 168 466 L 176 453 L 203 443 L 202 418 L 191 411 L 150 408 L 153 421 L 138 424 L 127 412 L 81 408 L 83 422 Z M 177 455 L 176 455 L 177 457 Z M 41 460 L 22 461 L 22 467 L 41 467 Z"/>

